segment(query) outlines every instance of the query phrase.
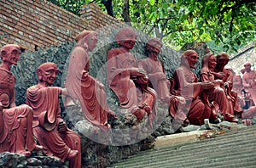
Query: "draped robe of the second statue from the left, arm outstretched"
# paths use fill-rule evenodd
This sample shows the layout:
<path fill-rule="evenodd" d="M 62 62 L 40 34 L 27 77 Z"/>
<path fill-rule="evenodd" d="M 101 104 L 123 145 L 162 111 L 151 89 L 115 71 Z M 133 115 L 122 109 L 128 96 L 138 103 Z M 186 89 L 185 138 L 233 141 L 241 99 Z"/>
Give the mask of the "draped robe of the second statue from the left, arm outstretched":
<path fill-rule="evenodd" d="M 59 95 L 61 87 L 29 87 L 26 91 L 26 104 L 34 110 L 33 133 L 44 147 L 44 154 L 53 155 L 64 162 L 71 149 L 79 154 L 70 160 L 69 167 L 81 167 L 81 142 L 76 132 L 67 128 L 59 132 L 61 118 Z"/>

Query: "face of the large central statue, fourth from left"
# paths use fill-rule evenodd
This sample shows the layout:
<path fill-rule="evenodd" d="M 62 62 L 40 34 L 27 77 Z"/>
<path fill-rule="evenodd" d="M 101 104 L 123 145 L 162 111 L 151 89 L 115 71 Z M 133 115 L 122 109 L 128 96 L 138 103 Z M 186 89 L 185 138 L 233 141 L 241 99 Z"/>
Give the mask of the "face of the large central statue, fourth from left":
<path fill-rule="evenodd" d="M 132 31 L 128 31 L 122 35 L 119 44 L 125 48 L 132 49 L 136 43 L 136 39 L 137 35 Z"/>

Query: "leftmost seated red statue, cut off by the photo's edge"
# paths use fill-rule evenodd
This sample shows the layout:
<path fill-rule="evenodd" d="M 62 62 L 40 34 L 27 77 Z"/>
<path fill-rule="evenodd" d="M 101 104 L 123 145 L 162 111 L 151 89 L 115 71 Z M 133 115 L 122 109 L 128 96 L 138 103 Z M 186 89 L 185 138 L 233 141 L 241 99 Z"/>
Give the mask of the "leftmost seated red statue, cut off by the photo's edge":
<path fill-rule="evenodd" d="M 15 104 L 15 76 L 10 69 L 20 59 L 20 47 L 7 44 L 1 49 L 0 64 L 0 153 L 29 156 L 33 149 L 42 149 L 32 135 L 32 108 Z"/>

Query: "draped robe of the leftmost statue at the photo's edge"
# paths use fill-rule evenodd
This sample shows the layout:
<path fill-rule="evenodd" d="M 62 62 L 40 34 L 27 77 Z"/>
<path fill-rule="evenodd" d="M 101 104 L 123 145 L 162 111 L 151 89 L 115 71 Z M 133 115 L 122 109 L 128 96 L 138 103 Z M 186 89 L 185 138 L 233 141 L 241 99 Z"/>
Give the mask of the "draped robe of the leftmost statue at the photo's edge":
<path fill-rule="evenodd" d="M 0 75 L 0 153 L 32 151 L 36 146 L 32 137 L 32 109 L 26 104 L 11 107 L 15 104 L 15 76 L 2 68 Z"/>

